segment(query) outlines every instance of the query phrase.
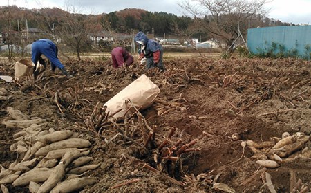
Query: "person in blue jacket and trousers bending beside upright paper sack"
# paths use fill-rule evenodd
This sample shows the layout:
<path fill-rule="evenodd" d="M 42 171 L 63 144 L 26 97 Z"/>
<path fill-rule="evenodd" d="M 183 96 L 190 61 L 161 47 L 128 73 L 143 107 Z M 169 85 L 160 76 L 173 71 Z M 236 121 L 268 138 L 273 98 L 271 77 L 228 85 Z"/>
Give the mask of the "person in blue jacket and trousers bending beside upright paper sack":
<path fill-rule="evenodd" d="M 44 68 L 46 68 L 46 62 L 44 62 L 44 59 L 41 57 L 41 55 L 45 55 L 50 60 L 50 65 L 53 72 L 56 68 L 59 68 L 64 75 L 72 77 L 68 74 L 62 62 L 60 62 L 57 58 L 57 54 L 58 48 L 50 39 L 39 39 L 33 42 L 31 46 L 31 60 L 36 65 L 34 74 L 36 75 L 39 73 L 39 71 L 36 71 L 39 67 L 37 66 L 38 61 L 44 66 Z"/>

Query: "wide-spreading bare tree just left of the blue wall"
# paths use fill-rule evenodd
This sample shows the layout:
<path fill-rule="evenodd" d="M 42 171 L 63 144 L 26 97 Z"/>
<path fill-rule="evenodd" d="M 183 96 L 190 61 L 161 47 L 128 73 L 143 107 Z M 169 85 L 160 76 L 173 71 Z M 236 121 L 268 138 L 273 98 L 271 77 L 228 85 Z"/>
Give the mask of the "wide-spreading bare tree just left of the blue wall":
<path fill-rule="evenodd" d="M 200 21 L 200 27 L 211 37 L 225 43 L 228 53 L 233 53 L 236 46 L 232 44 L 240 33 L 246 35 L 249 19 L 266 15 L 265 3 L 267 0 L 185 0 L 178 5 Z"/>

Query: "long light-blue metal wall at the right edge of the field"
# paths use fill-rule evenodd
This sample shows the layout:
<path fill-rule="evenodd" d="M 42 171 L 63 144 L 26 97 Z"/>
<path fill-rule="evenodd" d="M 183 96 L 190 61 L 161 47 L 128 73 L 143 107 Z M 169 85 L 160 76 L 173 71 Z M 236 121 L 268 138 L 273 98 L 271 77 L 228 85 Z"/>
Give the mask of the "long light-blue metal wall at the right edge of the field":
<path fill-rule="evenodd" d="M 285 55 L 295 52 L 298 57 L 310 59 L 311 26 L 252 28 L 247 30 L 247 46 L 254 54 L 268 50 L 277 54 L 281 48 Z"/>

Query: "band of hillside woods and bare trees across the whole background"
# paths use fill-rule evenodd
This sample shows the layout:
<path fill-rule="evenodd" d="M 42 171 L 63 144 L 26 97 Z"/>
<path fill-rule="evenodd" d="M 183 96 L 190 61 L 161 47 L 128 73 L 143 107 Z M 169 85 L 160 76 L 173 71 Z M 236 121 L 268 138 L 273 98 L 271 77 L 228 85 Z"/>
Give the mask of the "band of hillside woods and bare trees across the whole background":
<path fill-rule="evenodd" d="M 30 43 L 34 39 L 13 38 L 16 32 L 39 28 L 47 38 L 62 39 L 62 44 L 72 47 L 78 58 L 84 48 L 92 43 L 89 34 L 102 31 L 133 35 L 142 30 L 156 36 L 165 33 L 184 39 L 200 37 L 203 41 L 213 38 L 230 48 L 240 35 L 238 30 L 245 36 L 249 26 L 290 25 L 265 17 L 265 3 L 266 0 L 185 0 L 180 1 L 179 6 L 188 16 L 182 17 L 135 8 L 109 14 L 82 15 L 75 6 L 67 6 L 66 10 L 28 10 L 17 6 L 1 6 L 0 12 L 5 14 L 0 15 L 0 30 L 7 44 L 21 44 Z M 229 53 L 233 51 L 234 47 L 231 47 Z"/>

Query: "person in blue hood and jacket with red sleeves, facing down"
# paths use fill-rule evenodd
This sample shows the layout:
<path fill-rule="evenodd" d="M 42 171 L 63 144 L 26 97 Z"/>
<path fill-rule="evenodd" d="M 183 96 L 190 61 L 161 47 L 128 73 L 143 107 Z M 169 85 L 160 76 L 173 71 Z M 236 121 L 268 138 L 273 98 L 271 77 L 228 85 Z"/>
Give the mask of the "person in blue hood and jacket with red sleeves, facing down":
<path fill-rule="evenodd" d="M 145 57 L 147 59 L 145 68 L 158 67 L 160 71 L 165 71 L 162 46 L 153 39 L 148 39 L 147 35 L 142 32 L 138 32 L 134 40 L 140 44 L 139 58 L 142 59 Z"/>

